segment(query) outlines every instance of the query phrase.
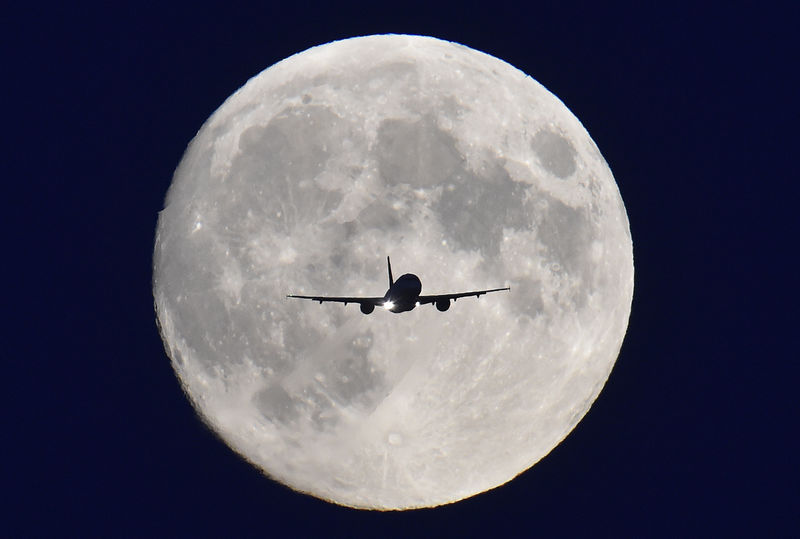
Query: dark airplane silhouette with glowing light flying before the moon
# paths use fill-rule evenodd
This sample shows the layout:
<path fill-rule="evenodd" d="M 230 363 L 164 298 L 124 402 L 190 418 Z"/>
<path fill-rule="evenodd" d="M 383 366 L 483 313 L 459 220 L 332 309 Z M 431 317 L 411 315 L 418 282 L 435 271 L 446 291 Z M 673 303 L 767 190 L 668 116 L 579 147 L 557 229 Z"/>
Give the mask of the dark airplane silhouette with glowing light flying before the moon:
<path fill-rule="evenodd" d="M 458 294 L 437 294 L 435 296 L 420 296 L 422 292 L 422 282 L 419 277 L 413 273 L 406 273 L 398 277 L 395 281 L 392 278 L 392 262 L 389 257 L 386 257 L 386 264 L 389 266 L 389 290 L 380 298 L 358 298 L 358 297 L 328 297 L 328 296 L 295 296 L 289 294 L 287 298 L 300 298 L 319 301 L 335 301 L 339 303 L 358 303 L 361 305 L 361 312 L 370 314 L 375 310 L 375 307 L 383 307 L 387 311 L 393 313 L 402 313 L 410 311 L 418 305 L 425 305 L 431 303 L 436 305 L 440 311 L 446 311 L 450 308 L 450 300 L 455 301 L 458 298 L 466 296 L 481 297 L 483 294 L 489 292 L 498 292 L 500 290 L 511 290 L 511 287 L 505 288 L 492 288 L 491 290 L 476 290 L 474 292 L 459 292 Z"/>

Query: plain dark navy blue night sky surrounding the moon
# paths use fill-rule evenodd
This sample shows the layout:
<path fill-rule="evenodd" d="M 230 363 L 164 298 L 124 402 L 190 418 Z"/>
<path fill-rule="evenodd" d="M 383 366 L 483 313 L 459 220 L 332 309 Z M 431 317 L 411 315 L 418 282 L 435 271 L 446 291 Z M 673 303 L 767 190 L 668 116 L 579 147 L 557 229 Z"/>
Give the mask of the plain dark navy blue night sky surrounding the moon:
<path fill-rule="evenodd" d="M 5 533 L 800 531 L 796 8 L 261 4 L 6 13 Z M 387 32 L 482 50 L 566 103 L 620 187 L 636 287 L 605 389 L 550 455 L 381 514 L 265 479 L 196 419 L 150 279 L 172 173 L 222 101 L 293 53 Z"/>

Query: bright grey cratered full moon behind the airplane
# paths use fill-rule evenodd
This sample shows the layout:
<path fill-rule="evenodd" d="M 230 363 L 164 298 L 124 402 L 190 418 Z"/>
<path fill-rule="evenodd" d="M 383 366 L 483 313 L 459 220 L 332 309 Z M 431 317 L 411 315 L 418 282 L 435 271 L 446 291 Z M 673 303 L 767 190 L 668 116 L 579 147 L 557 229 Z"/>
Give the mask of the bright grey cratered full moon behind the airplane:
<path fill-rule="evenodd" d="M 363 315 L 287 294 L 423 294 Z M 633 294 L 627 215 L 580 122 L 532 78 L 383 35 L 263 71 L 203 125 L 158 221 L 154 297 L 204 421 L 334 503 L 436 506 L 552 450 L 608 379 Z"/>

